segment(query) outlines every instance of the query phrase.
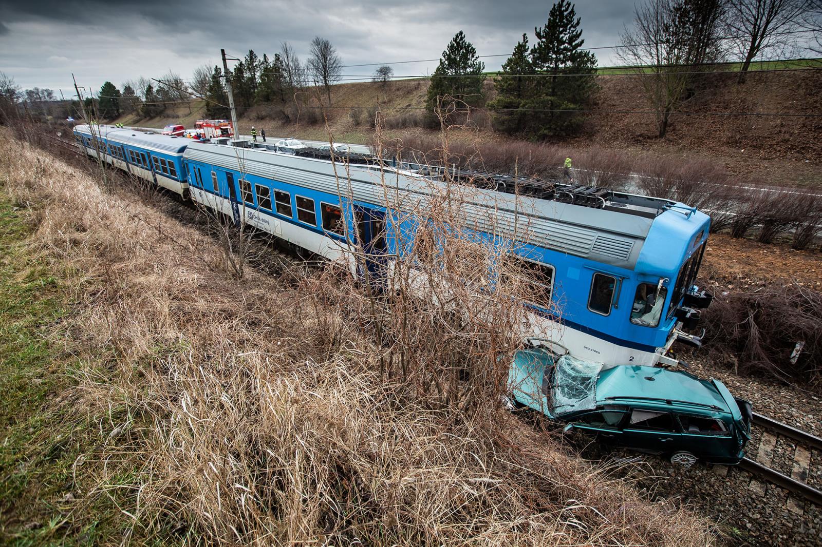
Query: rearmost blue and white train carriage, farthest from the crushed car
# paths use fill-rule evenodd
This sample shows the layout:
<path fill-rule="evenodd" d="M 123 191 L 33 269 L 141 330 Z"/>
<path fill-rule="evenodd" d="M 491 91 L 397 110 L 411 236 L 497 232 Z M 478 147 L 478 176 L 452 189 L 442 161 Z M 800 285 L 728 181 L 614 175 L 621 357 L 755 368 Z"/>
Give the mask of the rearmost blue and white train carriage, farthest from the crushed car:
<path fill-rule="evenodd" d="M 91 157 L 187 197 L 187 139 L 96 124 L 76 126 L 74 138 Z"/>

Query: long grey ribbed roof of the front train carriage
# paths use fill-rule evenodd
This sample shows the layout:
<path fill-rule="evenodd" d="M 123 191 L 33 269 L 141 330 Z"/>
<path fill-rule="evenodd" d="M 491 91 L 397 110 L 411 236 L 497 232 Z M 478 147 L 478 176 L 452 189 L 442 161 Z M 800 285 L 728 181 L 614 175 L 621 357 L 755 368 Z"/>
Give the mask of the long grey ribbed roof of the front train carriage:
<path fill-rule="evenodd" d="M 316 191 L 349 195 L 355 201 L 381 207 L 402 203 L 406 210 L 425 210 L 432 195 L 446 187 L 446 182 L 417 172 L 384 168 L 386 195 L 380 166 L 335 166 L 327 159 L 260 148 L 191 142 L 183 155 Z M 533 246 L 653 274 L 676 274 L 679 261 L 671 257 L 685 254 L 693 235 L 709 222 L 707 215 L 686 205 L 639 195 L 615 193 L 613 206 L 604 209 L 462 185 L 450 185 L 449 190 L 452 199 L 459 200 L 469 227 L 502 237 L 524 233 L 527 237 L 523 239 Z M 644 210 L 656 213 L 644 214 Z M 654 226 L 659 228 L 652 231 Z M 653 253 L 664 256 L 641 253 L 646 240 L 651 242 Z M 649 255 L 648 260 L 641 260 L 640 253 Z"/>

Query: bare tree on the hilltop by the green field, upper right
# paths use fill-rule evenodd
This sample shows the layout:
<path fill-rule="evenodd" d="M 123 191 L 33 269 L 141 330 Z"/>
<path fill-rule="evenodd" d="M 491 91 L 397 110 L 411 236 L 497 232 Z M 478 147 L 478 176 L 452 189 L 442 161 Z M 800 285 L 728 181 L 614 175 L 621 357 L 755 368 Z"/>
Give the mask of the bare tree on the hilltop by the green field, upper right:
<path fill-rule="evenodd" d="M 782 55 L 796 43 L 786 34 L 797 29 L 804 2 L 797 0 L 727 0 L 727 35 L 739 53 L 739 83 L 745 82 L 750 62 L 766 53 Z"/>

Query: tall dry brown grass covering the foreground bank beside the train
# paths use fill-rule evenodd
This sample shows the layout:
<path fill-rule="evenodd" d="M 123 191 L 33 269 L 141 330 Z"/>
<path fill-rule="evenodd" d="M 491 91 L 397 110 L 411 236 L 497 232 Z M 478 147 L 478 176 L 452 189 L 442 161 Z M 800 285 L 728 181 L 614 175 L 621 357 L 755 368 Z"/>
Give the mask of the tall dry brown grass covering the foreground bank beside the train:
<path fill-rule="evenodd" d="M 386 380 L 375 338 L 318 311 L 317 292 L 232 276 L 215 241 L 27 145 L 0 166 L 33 205 L 30 245 L 76 271 L 55 338 L 84 365 L 61 404 L 108 440 L 76 464 L 74 530 L 120 489 L 129 531 L 112 543 L 713 541 L 704 520 L 503 411 L 489 431 Z"/>

